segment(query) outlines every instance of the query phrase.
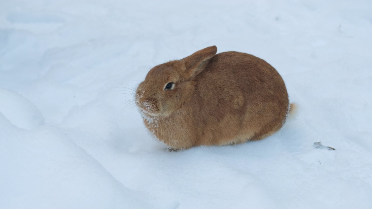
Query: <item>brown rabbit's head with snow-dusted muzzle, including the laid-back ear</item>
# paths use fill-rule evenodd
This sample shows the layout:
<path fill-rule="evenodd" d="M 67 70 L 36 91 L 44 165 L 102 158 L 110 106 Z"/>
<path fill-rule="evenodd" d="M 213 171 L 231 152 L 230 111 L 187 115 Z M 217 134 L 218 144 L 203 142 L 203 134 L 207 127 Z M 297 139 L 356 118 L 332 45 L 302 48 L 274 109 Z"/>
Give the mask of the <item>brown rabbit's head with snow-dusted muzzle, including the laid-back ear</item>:
<path fill-rule="evenodd" d="M 217 53 L 216 46 L 153 67 L 138 85 L 135 103 L 146 116 L 168 116 L 182 107 L 195 90 L 193 78 L 201 73 Z"/>

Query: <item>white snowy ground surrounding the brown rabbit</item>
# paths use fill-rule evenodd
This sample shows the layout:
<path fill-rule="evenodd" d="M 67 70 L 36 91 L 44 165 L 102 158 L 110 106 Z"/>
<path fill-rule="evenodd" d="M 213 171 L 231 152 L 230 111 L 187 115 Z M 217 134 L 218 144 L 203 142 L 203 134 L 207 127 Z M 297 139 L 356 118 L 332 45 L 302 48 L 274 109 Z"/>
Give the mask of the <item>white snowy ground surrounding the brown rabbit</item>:
<path fill-rule="evenodd" d="M 371 10 L 0 0 L 0 208 L 371 209 Z M 262 141 L 168 152 L 123 93 L 210 45 L 272 64 L 298 113 Z"/>

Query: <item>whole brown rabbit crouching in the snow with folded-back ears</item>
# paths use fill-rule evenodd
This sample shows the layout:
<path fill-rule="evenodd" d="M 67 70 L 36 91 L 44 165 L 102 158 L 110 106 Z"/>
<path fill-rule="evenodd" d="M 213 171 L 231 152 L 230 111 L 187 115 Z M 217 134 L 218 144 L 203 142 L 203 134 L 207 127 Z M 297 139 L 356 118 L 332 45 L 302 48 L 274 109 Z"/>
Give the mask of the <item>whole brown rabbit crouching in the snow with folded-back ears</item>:
<path fill-rule="evenodd" d="M 279 73 L 250 54 L 216 53 L 209 46 L 157 65 L 137 88 L 145 125 L 172 149 L 259 140 L 285 122 L 290 107 Z"/>

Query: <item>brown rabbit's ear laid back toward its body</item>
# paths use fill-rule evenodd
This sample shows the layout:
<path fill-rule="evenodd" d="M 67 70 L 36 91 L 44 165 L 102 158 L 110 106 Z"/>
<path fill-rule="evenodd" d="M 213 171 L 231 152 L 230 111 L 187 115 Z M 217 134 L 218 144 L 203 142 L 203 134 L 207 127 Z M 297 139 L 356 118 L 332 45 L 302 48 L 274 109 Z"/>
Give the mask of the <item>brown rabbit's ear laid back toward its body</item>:
<path fill-rule="evenodd" d="M 209 46 L 195 52 L 189 57 L 183 58 L 181 61 L 185 63 L 185 75 L 188 80 L 194 78 L 201 73 L 207 66 L 209 60 L 217 53 L 216 46 Z"/>

